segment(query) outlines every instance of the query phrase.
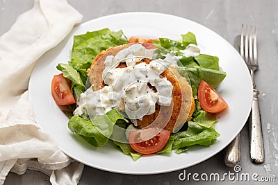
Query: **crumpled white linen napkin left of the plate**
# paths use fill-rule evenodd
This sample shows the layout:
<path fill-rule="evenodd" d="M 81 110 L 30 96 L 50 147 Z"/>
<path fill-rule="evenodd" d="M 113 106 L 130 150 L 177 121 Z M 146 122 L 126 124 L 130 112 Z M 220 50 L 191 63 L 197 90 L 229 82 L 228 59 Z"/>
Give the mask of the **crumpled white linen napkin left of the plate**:
<path fill-rule="evenodd" d="M 78 184 L 83 164 L 61 152 L 35 122 L 28 80 L 35 62 L 81 22 L 66 0 L 35 0 L 0 37 L 0 184 L 13 171 L 40 170 L 51 184 Z"/>

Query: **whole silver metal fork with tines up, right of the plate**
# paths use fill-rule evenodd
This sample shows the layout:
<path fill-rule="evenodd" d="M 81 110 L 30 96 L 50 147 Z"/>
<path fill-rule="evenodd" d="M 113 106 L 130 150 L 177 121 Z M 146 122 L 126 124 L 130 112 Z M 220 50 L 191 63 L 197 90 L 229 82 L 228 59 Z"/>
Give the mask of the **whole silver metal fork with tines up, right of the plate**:
<path fill-rule="evenodd" d="M 265 154 L 263 147 L 263 134 L 261 130 L 261 115 L 259 111 L 259 91 L 256 89 L 254 79 L 254 72 L 259 69 L 256 45 L 256 26 L 254 27 L 253 33 L 252 26 L 250 26 L 250 29 L 246 26 L 246 30 L 244 31 L 244 25 L 242 25 L 240 35 L 240 55 L 243 57 L 250 70 L 253 82 L 252 110 L 249 117 L 250 157 L 255 163 L 262 163 L 265 159 Z"/>

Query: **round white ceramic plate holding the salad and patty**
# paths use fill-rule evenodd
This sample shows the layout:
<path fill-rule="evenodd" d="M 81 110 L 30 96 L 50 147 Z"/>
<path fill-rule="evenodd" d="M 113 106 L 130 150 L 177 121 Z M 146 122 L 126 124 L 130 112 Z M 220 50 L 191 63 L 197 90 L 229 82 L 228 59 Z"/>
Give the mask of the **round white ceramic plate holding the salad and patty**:
<path fill-rule="evenodd" d="M 73 36 L 87 31 L 110 28 L 122 29 L 127 37 L 169 37 L 181 39 L 188 31 L 195 33 L 201 53 L 216 55 L 227 78 L 218 92 L 229 104 L 229 110 L 218 115 L 215 129 L 221 134 L 210 147 L 190 148 L 180 155 L 152 155 L 133 161 L 131 157 L 115 150 L 110 144 L 102 148 L 89 146 L 74 138 L 67 128 L 68 118 L 51 96 L 51 79 L 60 73 L 59 62 L 70 60 Z M 75 28 L 56 48 L 45 53 L 36 64 L 29 83 L 29 98 L 42 129 L 50 134 L 63 152 L 83 164 L 115 173 L 155 174 L 166 173 L 199 164 L 227 146 L 247 121 L 252 102 L 252 82 L 242 58 L 225 39 L 212 30 L 188 19 L 153 12 L 127 12 L 100 17 Z M 221 162 L 221 161 L 219 161 Z"/>

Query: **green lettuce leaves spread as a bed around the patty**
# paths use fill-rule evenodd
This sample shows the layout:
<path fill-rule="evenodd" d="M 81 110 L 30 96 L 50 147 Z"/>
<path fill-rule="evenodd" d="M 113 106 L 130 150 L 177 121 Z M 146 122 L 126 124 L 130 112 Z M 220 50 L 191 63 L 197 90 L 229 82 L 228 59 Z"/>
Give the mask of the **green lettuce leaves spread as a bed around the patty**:
<path fill-rule="evenodd" d="M 85 91 L 86 70 L 90 67 L 92 60 L 101 51 L 126 43 L 127 39 L 122 30 L 114 32 L 108 28 L 74 36 L 71 61 L 68 64 L 58 64 L 57 69 L 62 71 L 63 76 L 70 80 L 72 92 L 76 100 Z M 153 43 L 156 46 L 167 49 L 167 51 L 180 58 L 181 64 L 177 67 L 178 71 L 181 76 L 187 78 L 188 82 L 190 82 L 193 89 L 193 97 L 195 98 L 195 112 L 191 121 L 183 125 L 179 132 L 171 134 L 166 146 L 158 151 L 158 153 L 170 153 L 174 150 L 174 152 L 179 154 L 188 150 L 190 146 L 211 146 L 217 137 L 220 136 L 214 129 L 217 119 L 215 114 L 205 112 L 199 106 L 197 89 L 202 80 L 208 82 L 213 88 L 217 87 L 224 80 L 226 73 L 220 71 L 218 58 L 205 54 L 186 58 L 182 50 L 186 49 L 188 44 L 197 44 L 195 35 L 190 32 L 181 35 L 180 41 L 159 38 L 159 40 L 153 41 Z M 161 50 L 161 57 L 165 54 L 163 52 L 165 50 Z M 77 115 L 72 116 L 68 127 L 74 134 L 79 134 L 92 146 L 99 147 L 104 146 L 108 142 L 109 137 L 113 136 L 115 125 L 121 125 L 121 127 L 126 128 L 128 126 L 127 122 L 126 118 L 119 114 L 117 110 L 112 109 L 110 112 L 101 116 L 94 116 L 90 120 Z M 131 155 L 134 161 L 141 156 L 128 143 L 117 141 L 113 141 L 113 143 L 125 155 Z"/>

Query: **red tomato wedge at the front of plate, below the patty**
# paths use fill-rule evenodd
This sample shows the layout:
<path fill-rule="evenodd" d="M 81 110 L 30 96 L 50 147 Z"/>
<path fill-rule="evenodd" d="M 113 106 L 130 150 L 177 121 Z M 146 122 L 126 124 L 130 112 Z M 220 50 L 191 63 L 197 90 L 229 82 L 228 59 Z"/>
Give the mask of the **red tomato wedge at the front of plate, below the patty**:
<path fill-rule="evenodd" d="M 145 132 L 149 132 L 152 129 L 143 129 L 132 131 L 129 134 L 129 145 L 133 150 L 141 154 L 152 154 L 161 150 L 167 143 L 171 132 L 168 130 L 162 130 L 156 136 L 153 136 L 151 139 L 142 139 Z M 152 131 L 151 131 L 152 132 Z"/>

